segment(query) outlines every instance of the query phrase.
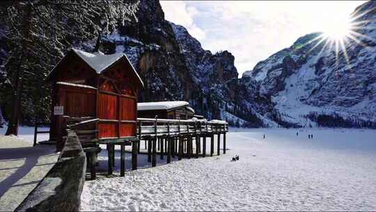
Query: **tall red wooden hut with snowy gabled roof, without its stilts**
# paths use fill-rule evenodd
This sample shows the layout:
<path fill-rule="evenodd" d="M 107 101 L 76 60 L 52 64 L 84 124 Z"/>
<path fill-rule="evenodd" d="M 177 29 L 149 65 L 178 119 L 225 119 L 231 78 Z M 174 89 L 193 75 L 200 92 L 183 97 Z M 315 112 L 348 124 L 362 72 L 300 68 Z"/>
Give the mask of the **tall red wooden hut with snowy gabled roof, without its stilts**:
<path fill-rule="evenodd" d="M 52 83 L 50 139 L 63 147 L 66 119 L 97 119 L 97 139 L 136 136 L 137 92 L 143 82 L 123 53 L 72 49 L 47 76 Z"/>

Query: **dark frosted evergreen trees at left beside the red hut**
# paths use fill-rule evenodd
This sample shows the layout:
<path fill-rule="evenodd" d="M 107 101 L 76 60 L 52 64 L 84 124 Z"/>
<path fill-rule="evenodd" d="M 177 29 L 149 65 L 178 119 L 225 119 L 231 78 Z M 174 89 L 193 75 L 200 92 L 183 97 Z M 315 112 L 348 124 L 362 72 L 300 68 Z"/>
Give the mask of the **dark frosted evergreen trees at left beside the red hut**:
<path fill-rule="evenodd" d="M 0 104 L 8 118 L 6 135 L 17 135 L 22 117 L 48 119 L 49 87 L 44 79 L 49 71 L 70 47 L 88 48 L 100 33 L 136 20 L 138 4 L 111 0 L 1 1 L 0 52 L 6 54 L 0 54 L 0 89 L 5 91 L 0 93 Z"/>

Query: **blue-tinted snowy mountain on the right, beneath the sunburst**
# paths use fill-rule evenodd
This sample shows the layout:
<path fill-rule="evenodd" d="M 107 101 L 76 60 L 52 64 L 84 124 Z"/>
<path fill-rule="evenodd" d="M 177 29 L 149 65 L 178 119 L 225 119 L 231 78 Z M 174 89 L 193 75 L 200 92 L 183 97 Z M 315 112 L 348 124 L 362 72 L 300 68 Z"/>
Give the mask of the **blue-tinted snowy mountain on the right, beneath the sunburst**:
<path fill-rule="evenodd" d="M 299 38 L 242 75 L 254 80 L 259 95 L 270 98 L 279 119 L 295 126 L 375 126 L 376 2 L 359 6 L 357 40 L 345 50 L 321 41 L 321 33 Z M 361 36 L 362 35 L 362 36 Z M 327 44 L 328 42 L 328 44 Z M 327 44 L 327 45 L 326 45 Z M 348 60 L 346 59 L 346 54 Z M 373 122 L 373 123 L 370 123 Z"/>

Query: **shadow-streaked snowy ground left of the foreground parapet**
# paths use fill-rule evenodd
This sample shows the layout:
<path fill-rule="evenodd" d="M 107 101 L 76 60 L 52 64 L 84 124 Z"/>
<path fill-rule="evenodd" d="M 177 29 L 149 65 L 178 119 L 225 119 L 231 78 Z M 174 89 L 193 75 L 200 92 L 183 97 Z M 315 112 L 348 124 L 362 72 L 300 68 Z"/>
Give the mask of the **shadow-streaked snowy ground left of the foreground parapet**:
<path fill-rule="evenodd" d="M 54 145 L 33 146 L 33 128 L 19 128 L 19 137 L 3 136 L 5 130 L 0 128 L 0 211 L 13 211 L 56 163 L 58 153 Z"/>

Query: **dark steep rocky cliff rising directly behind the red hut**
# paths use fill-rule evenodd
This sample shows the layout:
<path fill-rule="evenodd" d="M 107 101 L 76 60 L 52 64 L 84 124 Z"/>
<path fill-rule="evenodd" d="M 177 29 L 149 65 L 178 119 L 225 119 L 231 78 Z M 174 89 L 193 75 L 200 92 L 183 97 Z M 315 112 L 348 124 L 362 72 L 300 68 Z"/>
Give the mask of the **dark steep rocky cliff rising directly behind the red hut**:
<path fill-rule="evenodd" d="M 102 51 L 130 57 L 145 81 L 139 100 L 187 100 L 197 114 L 221 119 L 236 102 L 234 56 L 203 50 L 187 29 L 164 20 L 158 1 L 140 1 L 137 18 L 102 38 Z"/>

